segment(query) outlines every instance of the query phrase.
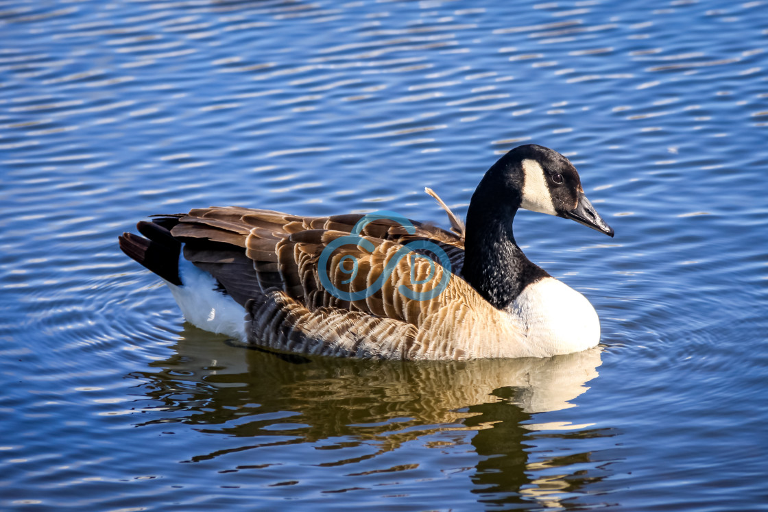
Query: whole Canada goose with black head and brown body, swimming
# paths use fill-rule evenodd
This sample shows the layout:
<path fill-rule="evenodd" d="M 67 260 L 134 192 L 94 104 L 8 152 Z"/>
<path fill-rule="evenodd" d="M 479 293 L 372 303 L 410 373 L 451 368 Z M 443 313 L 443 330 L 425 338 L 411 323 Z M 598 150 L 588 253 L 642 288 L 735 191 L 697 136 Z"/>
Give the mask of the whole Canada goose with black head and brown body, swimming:
<path fill-rule="evenodd" d="M 452 231 L 393 213 L 211 207 L 140 222 L 146 238 L 124 233 L 120 247 L 164 279 L 188 322 L 265 348 L 470 359 L 598 344 L 589 301 L 531 263 L 512 235 L 518 208 L 614 235 L 567 158 L 533 144 L 509 151 L 478 184 L 466 227 L 439 202 Z"/>

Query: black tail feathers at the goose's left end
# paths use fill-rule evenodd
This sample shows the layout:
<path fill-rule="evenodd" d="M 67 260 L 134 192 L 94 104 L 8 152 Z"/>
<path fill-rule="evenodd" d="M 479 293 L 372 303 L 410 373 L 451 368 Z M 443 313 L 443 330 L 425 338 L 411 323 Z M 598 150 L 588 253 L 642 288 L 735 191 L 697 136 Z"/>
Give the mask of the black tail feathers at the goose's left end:
<path fill-rule="evenodd" d="M 174 239 L 164 226 L 141 221 L 139 233 L 146 236 L 123 233 L 119 236 L 120 248 L 147 269 L 174 285 L 181 286 L 179 278 L 179 253 L 181 243 Z"/>

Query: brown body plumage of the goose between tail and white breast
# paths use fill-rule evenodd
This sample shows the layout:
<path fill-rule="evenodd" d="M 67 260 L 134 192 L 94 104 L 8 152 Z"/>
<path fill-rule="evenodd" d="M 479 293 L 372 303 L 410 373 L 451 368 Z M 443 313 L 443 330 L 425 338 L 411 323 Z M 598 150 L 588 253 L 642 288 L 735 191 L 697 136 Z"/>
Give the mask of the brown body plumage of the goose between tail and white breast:
<path fill-rule="evenodd" d="M 317 355 L 465 359 L 496 355 L 502 340 L 521 337 L 460 276 L 462 236 L 429 224 L 414 223 L 415 233 L 408 233 L 394 220 L 374 220 L 360 234 L 375 249 L 343 245 L 330 257 L 327 272 L 343 292 L 364 290 L 403 245 L 429 240 L 451 261 L 452 275 L 442 293 L 417 300 L 399 291 L 406 286 L 427 292 L 447 272 L 436 260 L 430 265 L 425 256 L 432 254 L 419 251 L 399 259 L 372 295 L 351 302 L 333 296 L 320 281 L 319 256 L 329 243 L 349 236 L 361 218 L 212 207 L 157 222 L 175 223 L 170 234 L 185 243 L 184 257 L 243 305 L 249 341 L 258 345 Z M 352 256 L 358 266 L 348 283 L 343 256 Z M 532 350 L 521 355 L 538 354 Z"/>

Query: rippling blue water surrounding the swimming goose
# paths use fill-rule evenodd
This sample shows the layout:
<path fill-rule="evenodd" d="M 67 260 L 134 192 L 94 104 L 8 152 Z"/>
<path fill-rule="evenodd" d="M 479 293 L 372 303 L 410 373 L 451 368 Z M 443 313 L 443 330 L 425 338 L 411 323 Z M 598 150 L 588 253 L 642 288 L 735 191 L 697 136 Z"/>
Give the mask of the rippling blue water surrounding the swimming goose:
<path fill-rule="evenodd" d="M 766 2 L 2 2 L 3 510 L 766 510 Z M 599 350 L 284 359 L 184 324 L 151 213 L 446 224 L 518 144 Z"/>

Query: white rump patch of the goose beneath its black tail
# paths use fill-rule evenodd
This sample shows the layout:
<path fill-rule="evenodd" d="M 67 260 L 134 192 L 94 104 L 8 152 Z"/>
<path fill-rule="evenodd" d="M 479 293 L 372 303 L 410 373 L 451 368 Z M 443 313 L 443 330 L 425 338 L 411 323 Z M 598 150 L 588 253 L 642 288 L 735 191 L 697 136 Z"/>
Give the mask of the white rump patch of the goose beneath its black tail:
<path fill-rule="evenodd" d="M 235 300 L 216 291 L 217 282 L 209 273 L 198 269 L 179 256 L 182 286 L 165 282 L 174 294 L 184 318 L 190 324 L 210 332 L 246 341 L 245 309 Z"/>

